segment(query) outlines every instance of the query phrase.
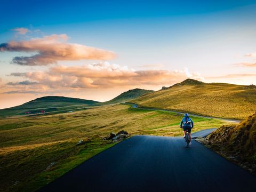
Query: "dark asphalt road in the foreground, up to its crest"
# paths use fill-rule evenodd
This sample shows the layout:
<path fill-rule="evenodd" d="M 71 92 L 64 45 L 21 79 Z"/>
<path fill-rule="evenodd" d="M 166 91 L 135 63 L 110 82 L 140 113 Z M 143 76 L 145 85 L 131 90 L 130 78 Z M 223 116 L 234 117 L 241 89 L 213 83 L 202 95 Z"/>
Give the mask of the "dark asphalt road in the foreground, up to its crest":
<path fill-rule="evenodd" d="M 39 191 L 256 191 L 256 178 L 192 141 L 138 135 Z"/>

